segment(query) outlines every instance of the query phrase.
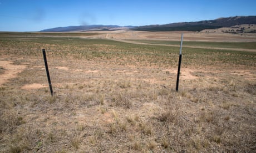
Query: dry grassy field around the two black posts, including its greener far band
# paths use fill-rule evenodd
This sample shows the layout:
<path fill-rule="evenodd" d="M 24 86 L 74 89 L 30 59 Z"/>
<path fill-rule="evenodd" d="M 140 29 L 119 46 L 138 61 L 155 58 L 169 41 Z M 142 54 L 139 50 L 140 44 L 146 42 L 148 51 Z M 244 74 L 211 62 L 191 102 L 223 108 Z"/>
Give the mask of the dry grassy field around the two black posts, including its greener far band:
<path fill-rule="evenodd" d="M 26 66 L 0 86 L 1 152 L 256 149 L 255 52 L 184 47 L 176 92 L 179 47 L 63 35 L 0 36 L 0 62 Z M 0 70 L 9 72 L 6 65 Z"/>

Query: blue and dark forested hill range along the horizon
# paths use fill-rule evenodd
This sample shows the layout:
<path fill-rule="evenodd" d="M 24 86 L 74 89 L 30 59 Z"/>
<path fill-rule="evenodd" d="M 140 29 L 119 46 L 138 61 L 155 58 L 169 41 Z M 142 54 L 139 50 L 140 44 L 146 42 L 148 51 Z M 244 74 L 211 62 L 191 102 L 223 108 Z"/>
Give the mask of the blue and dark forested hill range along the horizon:
<path fill-rule="evenodd" d="M 75 31 L 90 31 L 90 30 L 142 30 L 142 31 L 201 31 L 204 29 L 216 29 L 223 27 L 232 27 L 239 24 L 256 24 L 256 16 L 236 16 L 228 18 L 218 18 L 208 21 L 198 22 L 180 22 L 170 23 L 162 25 L 145 25 L 145 26 L 119 26 L 119 25 L 81 25 L 81 26 L 69 26 L 69 27 L 57 27 L 51 29 L 45 29 L 41 32 L 75 32 Z"/>

